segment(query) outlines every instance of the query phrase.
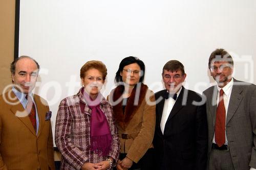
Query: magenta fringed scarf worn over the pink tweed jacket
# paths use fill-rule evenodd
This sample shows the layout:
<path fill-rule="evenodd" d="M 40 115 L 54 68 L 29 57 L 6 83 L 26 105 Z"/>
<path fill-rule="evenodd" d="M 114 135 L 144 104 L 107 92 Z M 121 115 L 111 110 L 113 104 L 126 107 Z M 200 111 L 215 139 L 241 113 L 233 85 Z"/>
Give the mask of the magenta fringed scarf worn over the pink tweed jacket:
<path fill-rule="evenodd" d="M 112 135 L 110 133 L 110 127 L 105 114 L 100 109 L 100 100 L 103 96 L 99 93 L 97 98 L 93 101 L 92 98 L 83 92 L 84 99 L 86 100 L 91 113 L 91 151 L 95 151 L 97 154 L 107 156 L 111 150 Z"/>

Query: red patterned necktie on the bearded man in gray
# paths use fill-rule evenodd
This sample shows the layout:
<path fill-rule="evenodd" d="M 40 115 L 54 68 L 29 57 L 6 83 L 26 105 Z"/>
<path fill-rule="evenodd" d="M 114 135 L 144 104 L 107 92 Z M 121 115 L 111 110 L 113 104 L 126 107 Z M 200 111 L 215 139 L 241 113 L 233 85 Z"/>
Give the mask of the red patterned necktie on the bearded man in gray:
<path fill-rule="evenodd" d="M 221 147 L 225 143 L 225 122 L 226 122 L 226 111 L 223 100 L 224 91 L 220 90 L 219 105 L 216 112 L 216 123 L 215 123 L 215 142 Z"/>

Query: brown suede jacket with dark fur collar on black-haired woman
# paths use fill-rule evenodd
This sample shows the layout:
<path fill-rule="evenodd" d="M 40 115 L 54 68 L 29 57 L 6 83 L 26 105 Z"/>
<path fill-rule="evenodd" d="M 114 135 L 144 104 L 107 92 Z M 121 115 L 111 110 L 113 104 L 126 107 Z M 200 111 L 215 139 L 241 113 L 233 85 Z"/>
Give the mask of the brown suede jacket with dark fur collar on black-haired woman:
<path fill-rule="evenodd" d="M 134 87 L 124 110 L 122 110 L 123 86 L 117 86 L 108 96 L 113 106 L 121 153 L 137 163 L 150 148 L 156 124 L 156 103 L 154 92 L 143 83 Z"/>

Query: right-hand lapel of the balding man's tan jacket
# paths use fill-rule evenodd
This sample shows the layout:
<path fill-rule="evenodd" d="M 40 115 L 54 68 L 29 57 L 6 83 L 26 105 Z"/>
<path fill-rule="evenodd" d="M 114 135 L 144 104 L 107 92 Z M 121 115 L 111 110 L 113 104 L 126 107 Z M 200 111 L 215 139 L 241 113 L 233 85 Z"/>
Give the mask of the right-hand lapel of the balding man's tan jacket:
<path fill-rule="evenodd" d="M 40 135 L 42 129 L 44 128 L 45 125 L 45 105 L 41 103 L 39 96 L 34 95 L 34 101 L 35 101 L 35 105 L 36 105 L 36 110 L 37 110 L 37 114 L 39 117 L 39 129 L 38 129 L 38 133 L 37 136 Z"/>

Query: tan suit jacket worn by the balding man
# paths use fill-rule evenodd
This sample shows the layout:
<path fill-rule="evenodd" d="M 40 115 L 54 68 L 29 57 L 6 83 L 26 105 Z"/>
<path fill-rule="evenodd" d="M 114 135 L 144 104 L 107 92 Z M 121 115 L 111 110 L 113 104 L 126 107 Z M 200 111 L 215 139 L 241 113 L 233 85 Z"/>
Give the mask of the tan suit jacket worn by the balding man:
<path fill-rule="evenodd" d="M 13 91 L 0 96 L 0 169 L 54 169 L 51 121 L 45 120 L 49 107 L 36 94 L 34 101 L 39 116 L 37 135 L 28 116 L 16 116 L 26 112 Z"/>

